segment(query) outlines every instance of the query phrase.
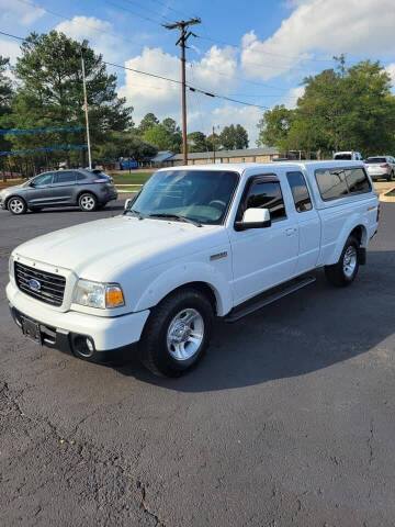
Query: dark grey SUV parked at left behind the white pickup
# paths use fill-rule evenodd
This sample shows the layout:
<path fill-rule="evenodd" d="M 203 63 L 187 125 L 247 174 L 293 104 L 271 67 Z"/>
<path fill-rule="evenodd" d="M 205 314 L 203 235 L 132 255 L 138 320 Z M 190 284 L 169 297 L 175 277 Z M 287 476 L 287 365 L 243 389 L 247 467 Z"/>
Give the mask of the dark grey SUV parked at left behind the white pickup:
<path fill-rule="evenodd" d="M 58 170 L 2 190 L 0 205 L 12 214 L 24 214 L 27 209 L 38 212 L 49 206 L 79 206 L 81 211 L 92 212 L 116 198 L 113 179 L 100 170 Z"/>

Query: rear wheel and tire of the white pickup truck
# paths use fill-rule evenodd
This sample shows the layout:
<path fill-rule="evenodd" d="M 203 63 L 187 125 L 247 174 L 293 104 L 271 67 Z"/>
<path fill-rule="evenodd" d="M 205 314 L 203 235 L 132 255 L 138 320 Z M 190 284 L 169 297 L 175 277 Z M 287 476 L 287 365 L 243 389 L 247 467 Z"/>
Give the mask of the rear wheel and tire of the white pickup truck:
<path fill-rule="evenodd" d="M 345 288 L 354 281 L 360 265 L 359 246 L 358 239 L 349 236 L 339 261 L 334 266 L 326 266 L 325 276 L 332 285 Z"/>

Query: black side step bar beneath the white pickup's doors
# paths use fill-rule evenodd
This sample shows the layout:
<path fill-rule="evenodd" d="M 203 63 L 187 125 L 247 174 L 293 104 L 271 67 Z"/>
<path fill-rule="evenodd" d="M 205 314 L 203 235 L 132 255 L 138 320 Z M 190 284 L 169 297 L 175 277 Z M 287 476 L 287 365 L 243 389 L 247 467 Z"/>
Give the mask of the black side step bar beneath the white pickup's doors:
<path fill-rule="evenodd" d="M 239 321 L 240 318 L 250 315 L 255 311 L 264 307 L 266 305 L 272 304 L 283 296 L 287 296 L 291 293 L 294 293 L 298 289 L 305 288 L 311 283 L 315 282 L 315 277 L 303 277 L 300 279 L 292 280 L 285 285 L 280 285 L 270 293 L 262 293 L 256 299 L 248 300 L 238 307 L 235 307 L 227 316 L 225 316 L 224 322 L 233 323 Z M 279 289 L 282 288 L 282 289 Z"/>

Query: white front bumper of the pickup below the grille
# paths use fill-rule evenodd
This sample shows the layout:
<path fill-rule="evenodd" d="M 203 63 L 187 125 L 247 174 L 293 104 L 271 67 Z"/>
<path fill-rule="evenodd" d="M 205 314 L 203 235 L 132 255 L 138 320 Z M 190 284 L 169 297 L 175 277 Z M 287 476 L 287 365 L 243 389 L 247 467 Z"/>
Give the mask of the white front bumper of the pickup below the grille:
<path fill-rule="evenodd" d="M 61 313 L 23 294 L 12 282 L 7 285 L 12 317 L 22 327 L 21 317 L 43 326 L 44 345 L 71 349 L 76 336 L 89 337 L 95 352 L 110 352 L 137 343 L 142 336 L 149 310 L 126 315 L 103 317 L 76 311 Z"/>

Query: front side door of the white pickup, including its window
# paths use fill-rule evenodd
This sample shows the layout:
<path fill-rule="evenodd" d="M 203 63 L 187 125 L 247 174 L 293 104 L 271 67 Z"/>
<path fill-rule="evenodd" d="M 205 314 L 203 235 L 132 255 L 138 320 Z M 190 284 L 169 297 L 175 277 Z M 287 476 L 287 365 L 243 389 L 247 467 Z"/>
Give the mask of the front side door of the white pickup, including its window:
<path fill-rule="evenodd" d="M 291 279 L 298 257 L 297 223 L 285 206 L 276 176 L 257 176 L 247 181 L 236 221 L 250 208 L 269 209 L 272 223 L 270 227 L 229 232 L 236 305 Z"/>

